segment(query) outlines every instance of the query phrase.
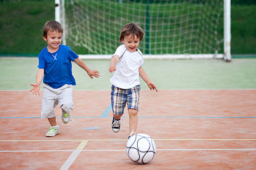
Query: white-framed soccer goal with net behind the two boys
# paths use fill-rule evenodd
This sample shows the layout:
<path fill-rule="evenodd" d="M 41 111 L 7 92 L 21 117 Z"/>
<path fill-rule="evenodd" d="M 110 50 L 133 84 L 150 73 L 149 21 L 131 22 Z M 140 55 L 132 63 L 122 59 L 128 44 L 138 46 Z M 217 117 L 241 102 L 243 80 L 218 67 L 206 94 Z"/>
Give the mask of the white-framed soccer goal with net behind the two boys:
<path fill-rule="evenodd" d="M 136 22 L 145 32 L 144 58 L 230 61 L 230 6 L 230 0 L 55 0 L 55 20 L 64 28 L 62 43 L 86 49 L 84 59 L 110 59 L 123 25 Z"/>

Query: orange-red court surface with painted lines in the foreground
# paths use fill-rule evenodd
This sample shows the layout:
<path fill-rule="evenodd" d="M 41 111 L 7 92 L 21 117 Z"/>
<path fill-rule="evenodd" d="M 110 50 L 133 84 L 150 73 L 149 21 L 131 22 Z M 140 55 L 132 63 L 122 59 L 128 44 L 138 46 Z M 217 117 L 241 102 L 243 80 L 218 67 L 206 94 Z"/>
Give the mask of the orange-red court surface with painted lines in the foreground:
<path fill-rule="evenodd" d="M 256 169 L 256 90 L 141 90 L 137 133 L 156 143 L 144 165 L 125 151 L 127 107 L 119 133 L 111 129 L 110 90 L 74 90 L 71 121 L 61 122 L 57 106 L 60 134 L 51 138 L 40 118 L 43 91 L 0 96 L 1 170 Z"/>

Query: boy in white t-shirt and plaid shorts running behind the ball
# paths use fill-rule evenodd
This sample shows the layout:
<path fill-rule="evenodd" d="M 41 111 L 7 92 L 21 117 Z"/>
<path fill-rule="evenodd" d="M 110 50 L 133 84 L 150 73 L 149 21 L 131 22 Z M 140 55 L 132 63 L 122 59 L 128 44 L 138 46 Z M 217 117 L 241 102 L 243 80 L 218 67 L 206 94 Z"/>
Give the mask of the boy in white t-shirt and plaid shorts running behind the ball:
<path fill-rule="evenodd" d="M 143 64 L 142 52 L 137 48 L 144 35 L 140 25 L 127 23 L 120 33 L 120 45 L 110 62 L 109 72 L 114 72 L 110 82 L 111 105 L 113 110 L 112 130 L 118 133 L 120 130 L 120 117 L 123 115 L 125 102 L 128 105 L 130 136 L 136 134 L 138 123 L 138 101 L 141 90 L 139 77 L 147 83 L 150 90 L 157 88 L 141 67 Z M 128 138 L 130 138 L 130 136 Z"/>

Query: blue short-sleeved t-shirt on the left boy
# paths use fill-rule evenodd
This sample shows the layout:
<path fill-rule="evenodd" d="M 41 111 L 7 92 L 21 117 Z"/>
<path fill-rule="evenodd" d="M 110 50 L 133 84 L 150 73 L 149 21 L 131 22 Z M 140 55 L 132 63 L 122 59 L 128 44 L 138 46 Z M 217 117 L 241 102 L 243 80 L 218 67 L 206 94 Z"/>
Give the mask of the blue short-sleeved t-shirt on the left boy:
<path fill-rule="evenodd" d="M 39 53 L 38 68 L 44 69 L 43 82 L 56 89 L 65 84 L 76 85 L 72 63 L 79 56 L 69 46 L 59 45 L 58 51 L 48 52 L 47 46 Z"/>

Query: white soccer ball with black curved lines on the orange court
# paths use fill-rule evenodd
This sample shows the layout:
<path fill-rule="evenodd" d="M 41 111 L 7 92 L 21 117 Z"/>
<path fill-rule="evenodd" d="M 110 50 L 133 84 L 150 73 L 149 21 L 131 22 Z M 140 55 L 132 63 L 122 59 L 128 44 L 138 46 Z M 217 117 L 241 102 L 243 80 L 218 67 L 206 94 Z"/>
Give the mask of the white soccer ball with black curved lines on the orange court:
<path fill-rule="evenodd" d="M 138 133 L 128 140 L 126 152 L 128 157 L 135 163 L 149 163 L 156 153 L 156 144 L 149 135 Z"/>

